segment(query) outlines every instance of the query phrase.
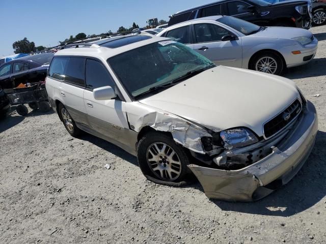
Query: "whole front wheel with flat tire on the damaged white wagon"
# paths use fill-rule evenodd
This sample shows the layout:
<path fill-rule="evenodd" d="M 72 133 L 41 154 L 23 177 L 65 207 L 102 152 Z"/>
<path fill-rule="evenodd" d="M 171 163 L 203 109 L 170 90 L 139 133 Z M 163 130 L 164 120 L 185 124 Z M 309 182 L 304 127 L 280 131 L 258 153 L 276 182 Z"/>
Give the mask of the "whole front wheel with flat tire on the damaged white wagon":
<path fill-rule="evenodd" d="M 178 186 L 188 173 L 188 156 L 168 135 L 145 134 L 138 143 L 137 156 L 143 174 L 155 183 Z"/>

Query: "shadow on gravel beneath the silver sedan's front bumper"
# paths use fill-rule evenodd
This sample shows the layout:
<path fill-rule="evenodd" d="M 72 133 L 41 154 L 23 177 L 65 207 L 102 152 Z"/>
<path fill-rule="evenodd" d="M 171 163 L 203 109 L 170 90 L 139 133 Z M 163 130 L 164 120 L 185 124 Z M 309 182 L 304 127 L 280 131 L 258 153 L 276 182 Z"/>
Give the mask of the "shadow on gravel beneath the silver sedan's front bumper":
<path fill-rule="evenodd" d="M 325 34 L 326 35 L 326 34 Z M 314 58 L 310 63 L 287 69 L 284 77 L 289 79 L 302 79 L 326 75 L 326 58 Z"/>

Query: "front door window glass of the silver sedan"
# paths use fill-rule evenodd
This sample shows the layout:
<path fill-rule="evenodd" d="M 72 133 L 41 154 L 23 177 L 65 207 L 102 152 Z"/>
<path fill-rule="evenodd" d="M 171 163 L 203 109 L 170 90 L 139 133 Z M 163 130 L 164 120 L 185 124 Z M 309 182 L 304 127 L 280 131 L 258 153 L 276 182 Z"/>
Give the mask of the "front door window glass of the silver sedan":
<path fill-rule="evenodd" d="M 232 35 L 225 28 L 215 24 L 195 24 L 195 34 L 198 43 L 218 42 L 225 35 Z"/>

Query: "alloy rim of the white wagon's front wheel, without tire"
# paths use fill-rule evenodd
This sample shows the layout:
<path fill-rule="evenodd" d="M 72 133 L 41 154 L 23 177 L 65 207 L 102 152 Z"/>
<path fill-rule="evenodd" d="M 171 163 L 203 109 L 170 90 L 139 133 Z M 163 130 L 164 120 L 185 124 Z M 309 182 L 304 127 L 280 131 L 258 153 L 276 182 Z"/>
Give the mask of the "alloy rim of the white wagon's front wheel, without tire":
<path fill-rule="evenodd" d="M 176 151 L 168 144 L 155 142 L 147 149 L 147 162 L 151 171 L 160 179 L 172 181 L 181 173 L 181 162 Z"/>

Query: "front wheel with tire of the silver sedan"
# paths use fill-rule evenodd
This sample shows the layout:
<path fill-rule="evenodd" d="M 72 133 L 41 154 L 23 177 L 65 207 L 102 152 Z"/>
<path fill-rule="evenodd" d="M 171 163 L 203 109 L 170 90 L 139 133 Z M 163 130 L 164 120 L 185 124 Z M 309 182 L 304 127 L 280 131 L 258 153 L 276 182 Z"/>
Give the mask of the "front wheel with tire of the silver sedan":
<path fill-rule="evenodd" d="M 280 75 L 283 72 L 283 60 L 274 52 L 263 52 L 253 57 L 250 64 L 251 70 L 268 74 Z"/>

